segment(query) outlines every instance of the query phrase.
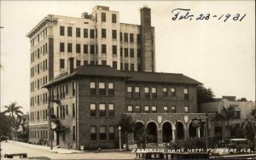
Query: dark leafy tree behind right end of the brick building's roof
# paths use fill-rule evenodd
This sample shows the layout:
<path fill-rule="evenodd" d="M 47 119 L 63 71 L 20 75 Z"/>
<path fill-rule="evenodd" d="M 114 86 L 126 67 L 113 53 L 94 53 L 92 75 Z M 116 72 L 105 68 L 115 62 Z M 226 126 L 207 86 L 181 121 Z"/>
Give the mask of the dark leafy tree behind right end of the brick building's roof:
<path fill-rule="evenodd" d="M 200 106 L 202 103 L 212 102 L 214 101 L 214 93 L 212 89 L 205 88 L 203 84 L 197 86 L 196 88 L 196 96 L 197 96 L 197 106 Z"/>

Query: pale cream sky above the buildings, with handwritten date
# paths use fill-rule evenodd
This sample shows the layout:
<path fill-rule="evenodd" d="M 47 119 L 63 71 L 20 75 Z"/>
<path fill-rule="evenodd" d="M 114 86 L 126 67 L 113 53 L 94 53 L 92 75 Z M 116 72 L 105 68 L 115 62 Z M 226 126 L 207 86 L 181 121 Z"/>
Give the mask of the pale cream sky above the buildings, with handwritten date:
<path fill-rule="evenodd" d="M 183 73 L 222 95 L 255 101 L 255 2 L 252 1 L 0 1 L 1 100 L 30 105 L 30 43 L 26 34 L 48 14 L 80 17 L 96 5 L 119 11 L 122 23 L 140 25 L 151 9 L 156 71 Z M 173 20 L 173 9 L 190 9 L 192 20 Z M 180 11 L 180 14 L 186 12 Z M 179 14 L 179 15 L 180 15 Z M 196 20 L 210 14 L 208 20 Z M 221 15 L 223 15 L 221 17 Z M 226 15 L 230 14 L 228 20 Z M 241 14 L 238 20 L 233 20 Z M 246 16 L 240 21 L 241 17 Z M 216 15 L 213 18 L 213 15 Z M 227 15 L 228 16 L 228 15 Z M 221 18 L 220 18 L 221 17 Z M 218 20 L 220 18 L 220 20 Z M 235 18 L 236 19 L 236 18 Z"/>

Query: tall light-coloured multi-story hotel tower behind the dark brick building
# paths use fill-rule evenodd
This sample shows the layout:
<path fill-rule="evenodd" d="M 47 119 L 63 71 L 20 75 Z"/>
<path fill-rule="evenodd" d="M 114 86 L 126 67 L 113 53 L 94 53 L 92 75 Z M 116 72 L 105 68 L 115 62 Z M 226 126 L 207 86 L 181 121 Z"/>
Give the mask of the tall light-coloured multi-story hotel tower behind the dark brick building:
<path fill-rule="evenodd" d="M 154 27 L 150 9 L 141 25 L 119 22 L 119 12 L 96 6 L 81 18 L 49 14 L 27 34 L 31 43 L 30 129 L 32 142 L 48 139 L 49 93 L 42 86 L 74 66 L 108 65 L 124 71 L 154 71 Z"/>

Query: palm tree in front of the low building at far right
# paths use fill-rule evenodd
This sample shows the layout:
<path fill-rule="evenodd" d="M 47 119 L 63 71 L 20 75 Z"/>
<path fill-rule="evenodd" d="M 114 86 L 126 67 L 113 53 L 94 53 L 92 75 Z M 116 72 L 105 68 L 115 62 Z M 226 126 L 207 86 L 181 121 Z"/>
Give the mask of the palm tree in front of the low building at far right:
<path fill-rule="evenodd" d="M 229 135 L 230 135 L 230 120 L 236 117 L 236 109 L 235 106 L 228 106 L 228 107 L 223 107 L 221 113 L 218 113 L 217 118 L 219 119 L 224 119 L 227 121 L 228 125 L 227 128 L 229 130 Z"/>

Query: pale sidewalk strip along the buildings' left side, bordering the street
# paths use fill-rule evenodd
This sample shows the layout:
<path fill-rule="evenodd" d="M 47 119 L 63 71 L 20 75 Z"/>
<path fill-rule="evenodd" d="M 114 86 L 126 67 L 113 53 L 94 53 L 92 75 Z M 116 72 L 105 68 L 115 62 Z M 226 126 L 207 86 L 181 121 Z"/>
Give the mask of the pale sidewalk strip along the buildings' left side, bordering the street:
<path fill-rule="evenodd" d="M 51 152 L 55 152 L 55 153 L 71 154 L 71 153 L 84 152 L 84 151 L 68 150 L 68 149 L 57 148 L 57 147 L 53 147 L 53 149 L 50 150 L 49 146 L 32 145 L 32 144 L 28 144 L 28 143 L 19 142 L 19 141 L 13 141 L 13 140 L 8 140 L 8 141 L 9 141 L 9 143 L 16 143 L 16 144 L 20 144 L 22 146 L 28 146 L 31 148 L 36 148 L 36 149 L 45 150 L 45 151 L 51 151 Z"/>

